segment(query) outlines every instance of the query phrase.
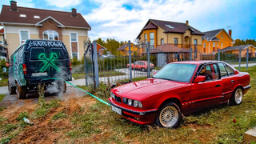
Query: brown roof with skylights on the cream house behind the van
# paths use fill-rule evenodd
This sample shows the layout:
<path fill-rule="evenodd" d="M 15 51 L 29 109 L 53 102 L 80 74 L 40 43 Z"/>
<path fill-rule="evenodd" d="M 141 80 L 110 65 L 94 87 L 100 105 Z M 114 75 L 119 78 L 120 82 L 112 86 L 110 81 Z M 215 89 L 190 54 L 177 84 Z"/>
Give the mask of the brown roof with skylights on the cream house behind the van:
<path fill-rule="evenodd" d="M 26 18 L 21 18 L 20 14 L 26 14 Z M 71 12 L 65 11 L 42 10 L 20 6 L 17 6 L 17 11 L 13 11 L 10 10 L 10 6 L 3 5 L 0 22 L 4 24 L 36 25 L 48 18 L 52 18 L 60 26 L 91 29 L 90 25 L 82 17 L 82 14 L 77 13 L 77 17 L 72 17 L 71 14 Z M 34 16 L 39 16 L 40 18 L 34 18 Z"/>

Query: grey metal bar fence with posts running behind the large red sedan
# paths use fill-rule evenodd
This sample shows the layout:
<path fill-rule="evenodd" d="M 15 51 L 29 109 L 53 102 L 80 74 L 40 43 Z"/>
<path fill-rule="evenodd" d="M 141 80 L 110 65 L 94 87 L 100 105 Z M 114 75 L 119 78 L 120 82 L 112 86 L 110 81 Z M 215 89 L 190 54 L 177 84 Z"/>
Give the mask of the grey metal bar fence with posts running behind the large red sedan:
<path fill-rule="evenodd" d="M 95 47 L 95 48 L 94 48 Z M 241 66 L 242 62 L 256 60 L 247 53 L 246 58 L 239 54 L 226 54 L 218 50 L 216 54 L 201 54 L 197 46 L 178 50 L 162 50 L 158 47 L 150 49 L 150 42 L 128 41 L 128 50 L 119 51 L 117 55 L 97 53 L 97 43 L 87 46 L 85 53 L 86 85 L 99 82 L 118 85 L 139 79 L 152 77 L 158 70 L 170 62 L 193 60 L 221 60 L 234 62 Z M 239 67 L 240 70 L 240 67 Z"/>

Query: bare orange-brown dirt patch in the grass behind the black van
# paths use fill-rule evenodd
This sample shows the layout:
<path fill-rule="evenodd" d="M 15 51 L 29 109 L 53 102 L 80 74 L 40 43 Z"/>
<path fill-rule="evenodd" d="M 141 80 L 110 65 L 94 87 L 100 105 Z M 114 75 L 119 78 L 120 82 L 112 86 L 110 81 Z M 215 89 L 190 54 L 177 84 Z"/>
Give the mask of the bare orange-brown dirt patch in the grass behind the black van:
<path fill-rule="evenodd" d="M 66 133 L 71 130 L 72 124 L 70 118 L 62 118 L 53 120 L 55 114 L 65 111 L 66 114 L 71 115 L 76 111 L 86 113 L 87 107 L 93 105 L 96 100 L 85 95 L 83 92 L 79 92 L 74 88 L 69 87 L 66 93 L 61 97 L 58 95 L 47 95 L 46 102 L 52 99 L 61 99 L 57 108 L 54 108 L 48 112 L 46 117 L 31 119 L 34 122 L 33 126 L 26 126 L 22 132 L 16 135 L 10 143 L 53 143 L 53 142 L 66 142 L 68 137 Z M 2 104 L 7 104 L 6 109 L 0 112 L 3 118 L 7 118 L 8 122 L 18 123 L 16 118 L 18 114 L 26 111 L 32 115 L 36 109 L 38 98 L 26 98 L 24 100 L 15 100 L 15 95 L 7 95 L 10 97 L 11 102 L 8 102 L 6 98 Z M 1 137 L 2 138 L 2 137 Z M 69 142 L 69 141 L 67 141 Z"/>

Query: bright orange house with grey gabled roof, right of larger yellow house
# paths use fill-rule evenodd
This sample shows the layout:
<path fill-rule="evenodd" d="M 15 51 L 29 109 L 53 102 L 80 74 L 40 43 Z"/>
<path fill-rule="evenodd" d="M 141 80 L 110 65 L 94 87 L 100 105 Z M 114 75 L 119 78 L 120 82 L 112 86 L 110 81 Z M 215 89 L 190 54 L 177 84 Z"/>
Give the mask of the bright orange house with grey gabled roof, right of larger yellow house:
<path fill-rule="evenodd" d="M 231 30 L 229 34 L 224 29 L 210 30 L 203 32 L 205 35 L 202 39 L 202 54 L 215 54 L 218 49 L 233 46 L 233 38 L 231 38 Z"/>

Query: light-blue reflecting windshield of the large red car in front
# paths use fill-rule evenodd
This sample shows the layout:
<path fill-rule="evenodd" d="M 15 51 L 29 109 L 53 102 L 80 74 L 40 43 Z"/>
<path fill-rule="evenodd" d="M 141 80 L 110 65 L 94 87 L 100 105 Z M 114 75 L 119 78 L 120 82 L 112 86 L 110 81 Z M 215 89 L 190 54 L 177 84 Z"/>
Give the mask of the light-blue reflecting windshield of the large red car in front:
<path fill-rule="evenodd" d="M 174 82 L 190 82 L 197 65 L 172 63 L 164 66 L 153 78 L 166 79 Z"/>

